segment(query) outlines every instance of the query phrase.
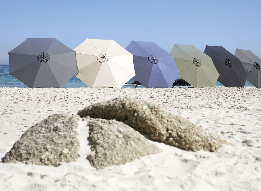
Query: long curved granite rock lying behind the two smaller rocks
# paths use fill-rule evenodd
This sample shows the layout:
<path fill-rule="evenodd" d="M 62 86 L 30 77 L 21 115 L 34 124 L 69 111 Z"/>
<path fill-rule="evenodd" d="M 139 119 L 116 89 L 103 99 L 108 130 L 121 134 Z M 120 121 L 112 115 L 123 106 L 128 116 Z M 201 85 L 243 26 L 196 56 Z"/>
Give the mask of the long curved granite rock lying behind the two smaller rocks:
<path fill-rule="evenodd" d="M 122 121 L 153 140 L 187 151 L 216 151 L 226 143 L 219 136 L 204 132 L 189 120 L 168 113 L 159 105 L 132 97 L 93 104 L 80 110 L 78 115 Z"/>

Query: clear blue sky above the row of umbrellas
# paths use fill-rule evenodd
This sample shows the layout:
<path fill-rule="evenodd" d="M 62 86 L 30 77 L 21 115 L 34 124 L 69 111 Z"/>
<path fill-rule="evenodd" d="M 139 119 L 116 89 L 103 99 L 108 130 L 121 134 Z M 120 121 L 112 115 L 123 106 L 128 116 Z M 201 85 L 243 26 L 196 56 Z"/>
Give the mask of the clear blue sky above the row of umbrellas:
<path fill-rule="evenodd" d="M 30 38 L 57 38 L 74 49 L 86 38 L 250 49 L 261 57 L 260 0 L 1 1 L 0 64 Z"/>

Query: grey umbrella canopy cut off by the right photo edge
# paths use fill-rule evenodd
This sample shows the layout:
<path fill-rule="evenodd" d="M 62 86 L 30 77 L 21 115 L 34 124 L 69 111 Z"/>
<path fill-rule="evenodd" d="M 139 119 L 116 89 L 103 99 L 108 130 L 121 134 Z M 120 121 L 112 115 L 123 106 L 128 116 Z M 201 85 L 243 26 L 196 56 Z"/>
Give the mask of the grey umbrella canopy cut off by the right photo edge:
<path fill-rule="evenodd" d="M 261 87 L 261 59 L 258 58 L 250 50 L 242 50 L 236 48 L 235 56 L 240 59 L 247 72 L 247 81 L 253 84 L 256 88 Z"/>

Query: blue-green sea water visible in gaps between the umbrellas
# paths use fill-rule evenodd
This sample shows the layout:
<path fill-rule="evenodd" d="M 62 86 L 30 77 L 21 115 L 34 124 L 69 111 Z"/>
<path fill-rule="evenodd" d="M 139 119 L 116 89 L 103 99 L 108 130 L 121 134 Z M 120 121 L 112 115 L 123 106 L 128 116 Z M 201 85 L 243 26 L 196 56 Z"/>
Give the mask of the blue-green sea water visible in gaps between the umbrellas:
<path fill-rule="evenodd" d="M 129 84 L 122 86 L 122 88 L 134 88 L 136 85 L 131 84 L 134 81 L 135 81 L 135 79 L 131 78 L 128 81 Z M 9 65 L 0 65 L 0 87 L 10 87 L 10 88 L 25 87 L 25 88 L 27 88 L 27 86 L 23 82 L 14 78 L 13 76 L 9 75 Z M 79 88 L 79 87 L 88 87 L 88 86 L 74 76 L 63 87 L 64 88 Z M 179 87 L 179 86 L 175 86 L 175 87 Z M 192 86 L 182 86 L 182 87 L 192 87 Z M 224 87 L 224 86 L 221 83 L 217 82 L 216 87 Z M 250 82 L 246 81 L 245 87 L 254 87 L 254 86 Z M 138 85 L 137 88 L 144 88 L 144 86 Z"/>

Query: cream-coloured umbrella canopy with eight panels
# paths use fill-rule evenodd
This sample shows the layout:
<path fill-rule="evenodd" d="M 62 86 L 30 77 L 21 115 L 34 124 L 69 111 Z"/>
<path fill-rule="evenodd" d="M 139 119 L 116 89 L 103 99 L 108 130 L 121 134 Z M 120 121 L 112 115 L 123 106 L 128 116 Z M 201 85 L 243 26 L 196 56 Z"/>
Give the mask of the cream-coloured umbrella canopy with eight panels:
<path fill-rule="evenodd" d="M 86 39 L 76 51 L 77 78 L 89 87 L 122 87 L 135 75 L 132 54 L 114 40 Z"/>

